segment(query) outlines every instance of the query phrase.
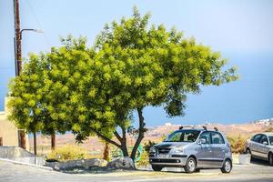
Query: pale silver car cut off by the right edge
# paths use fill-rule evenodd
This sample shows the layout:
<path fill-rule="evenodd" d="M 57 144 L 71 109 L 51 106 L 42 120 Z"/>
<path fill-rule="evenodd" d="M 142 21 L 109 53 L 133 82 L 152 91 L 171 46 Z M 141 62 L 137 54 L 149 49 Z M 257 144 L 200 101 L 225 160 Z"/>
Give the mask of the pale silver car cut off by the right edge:
<path fill-rule="evenodd" d="M 267 160 L 273 166 L 273 133 L 261 133 L 248 139 L 246 152 L 251 157 Z"/>

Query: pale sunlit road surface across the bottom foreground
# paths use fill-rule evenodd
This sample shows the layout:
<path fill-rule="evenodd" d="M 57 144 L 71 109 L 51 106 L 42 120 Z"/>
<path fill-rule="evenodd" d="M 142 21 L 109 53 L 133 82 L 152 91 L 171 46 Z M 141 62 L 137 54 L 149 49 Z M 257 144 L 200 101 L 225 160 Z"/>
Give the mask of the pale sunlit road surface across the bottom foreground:
<path fill-rule="evenodd" d="M 169 170 L 172 170 L 170 168 Z M 220 170 L 201 170 L 200 173 L 186 174 L 183 171 L 153 172 L 147 170 L 67 174 L 48 171 L 37 167 L 27 167 L 0 161 L 0 182 L 146 182 L 146 181 L 248 181 L 273 182 L 273 167 L 266 163 L 254 162 L 247 166 L 235 165 L 230 174 Z"/>

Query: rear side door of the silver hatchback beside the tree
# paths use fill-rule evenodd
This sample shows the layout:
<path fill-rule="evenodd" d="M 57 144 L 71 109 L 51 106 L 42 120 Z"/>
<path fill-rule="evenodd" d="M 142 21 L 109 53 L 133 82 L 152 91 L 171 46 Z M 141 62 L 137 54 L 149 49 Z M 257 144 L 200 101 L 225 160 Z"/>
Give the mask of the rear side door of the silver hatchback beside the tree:
<path fill-rule="evenodd" d="M 211 132 L 212 141 L 212 156 L 210 165 L 214 167 L 222 167 L 227 148 L 225 146 L 225 140 L 219 132 Z"/>

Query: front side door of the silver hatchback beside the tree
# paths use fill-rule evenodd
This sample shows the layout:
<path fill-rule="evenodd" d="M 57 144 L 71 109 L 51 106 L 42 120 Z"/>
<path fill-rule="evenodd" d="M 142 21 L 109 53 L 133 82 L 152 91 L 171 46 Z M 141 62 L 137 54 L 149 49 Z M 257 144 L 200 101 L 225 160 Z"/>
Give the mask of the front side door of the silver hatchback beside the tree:
<path fill-rule="evenodd" d="M 197 149 L 197 165 L 198 167 L 209 167 L 210 158 L 212 156 L 211 136 L 209 131 L 204 131 L 199 139 L 205 139 L 206 143 L 199 144 Z"/>

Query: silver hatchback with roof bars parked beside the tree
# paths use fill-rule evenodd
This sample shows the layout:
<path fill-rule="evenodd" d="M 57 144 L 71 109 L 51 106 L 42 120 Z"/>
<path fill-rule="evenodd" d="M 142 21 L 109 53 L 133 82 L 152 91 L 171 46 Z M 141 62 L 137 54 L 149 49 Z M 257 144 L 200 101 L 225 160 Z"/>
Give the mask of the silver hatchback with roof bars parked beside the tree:
<path fill-rule="evenodd" d="M 163 167 L 184 167 L 187 173 L 202 168 L 232 169 L 232 154 L 227 138 L 217 131 L 184 129 L 173 132 L 167 139 L 150 148 L 149 162 L 155 171 Z"/>

